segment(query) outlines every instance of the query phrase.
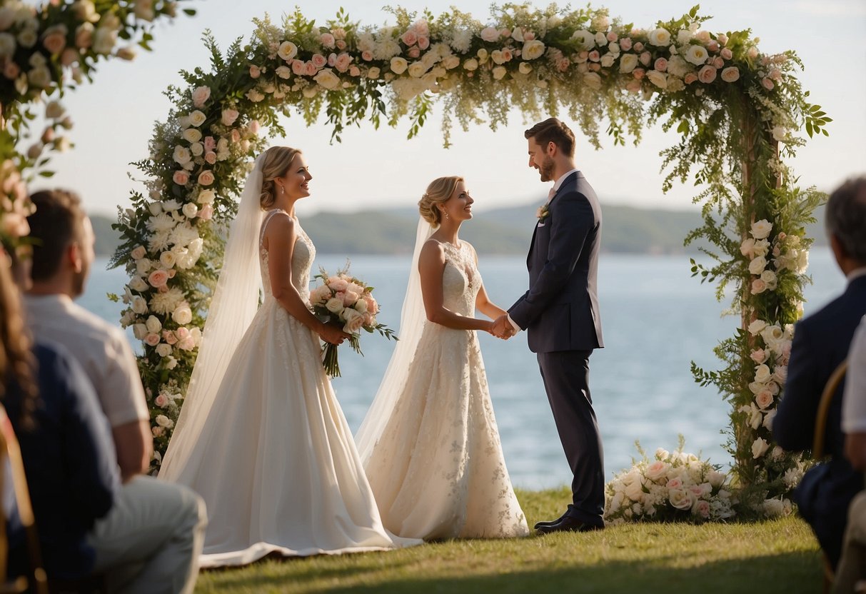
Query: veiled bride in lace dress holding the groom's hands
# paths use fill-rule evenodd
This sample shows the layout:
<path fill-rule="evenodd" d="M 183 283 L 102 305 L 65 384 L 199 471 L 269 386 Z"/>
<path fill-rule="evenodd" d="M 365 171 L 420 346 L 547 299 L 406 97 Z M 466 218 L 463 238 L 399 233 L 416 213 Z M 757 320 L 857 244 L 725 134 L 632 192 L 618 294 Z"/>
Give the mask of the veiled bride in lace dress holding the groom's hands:
<path fill-rule="evenodd" d="M 382 520 L 416 539 L 526 536 L 508 478 L 476 330 L 504 311 L 488 300 L 462 178 L 430 184 L 419 207 L 400 340 L 358 433 Z M 502 337 L 504 338 L 504 337 Z"/>

